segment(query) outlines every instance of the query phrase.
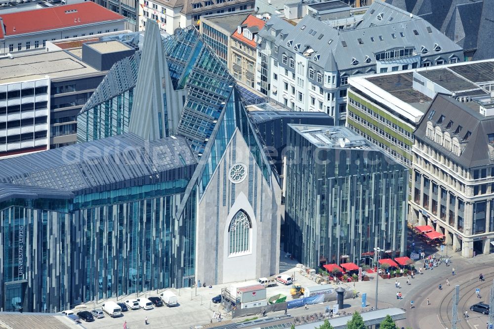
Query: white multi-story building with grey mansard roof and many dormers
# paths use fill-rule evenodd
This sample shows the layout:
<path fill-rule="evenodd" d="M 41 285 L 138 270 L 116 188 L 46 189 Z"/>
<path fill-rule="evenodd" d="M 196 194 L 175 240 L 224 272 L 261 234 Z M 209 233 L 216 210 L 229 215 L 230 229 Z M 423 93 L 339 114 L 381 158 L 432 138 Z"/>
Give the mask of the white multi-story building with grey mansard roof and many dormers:
<path fill-rule="evenodd" d="M 305 16 L 272 17 L 259 33 L 257 90 L 295 111 L 347 117 L 348 77 L 461 61 L 463 50 L 418 16 L 376 1 L 362 21 L 337 29 Z"/>

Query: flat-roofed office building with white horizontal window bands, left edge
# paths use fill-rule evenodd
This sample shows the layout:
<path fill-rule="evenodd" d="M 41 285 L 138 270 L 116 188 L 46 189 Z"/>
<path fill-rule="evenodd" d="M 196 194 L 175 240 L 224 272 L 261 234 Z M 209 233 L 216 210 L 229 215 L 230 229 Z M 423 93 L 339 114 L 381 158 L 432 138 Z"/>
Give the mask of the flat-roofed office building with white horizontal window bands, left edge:
<path fill-rule="evenodd" d="M 0 158 L 76 142 L 77 113 L 113 63 L 120 41 L 0 58 Z"/>

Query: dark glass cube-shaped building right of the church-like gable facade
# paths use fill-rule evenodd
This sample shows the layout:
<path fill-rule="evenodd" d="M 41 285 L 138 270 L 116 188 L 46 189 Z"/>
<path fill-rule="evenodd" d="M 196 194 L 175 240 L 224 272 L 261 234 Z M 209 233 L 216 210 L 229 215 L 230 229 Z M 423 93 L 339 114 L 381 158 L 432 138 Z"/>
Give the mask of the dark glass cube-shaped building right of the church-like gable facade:
<path fill-rule="evenodd" d="M 288 148 L 288 252 L 311 268 L 405 255 L 406 167 L 346 127 L 289 124 Z"/>

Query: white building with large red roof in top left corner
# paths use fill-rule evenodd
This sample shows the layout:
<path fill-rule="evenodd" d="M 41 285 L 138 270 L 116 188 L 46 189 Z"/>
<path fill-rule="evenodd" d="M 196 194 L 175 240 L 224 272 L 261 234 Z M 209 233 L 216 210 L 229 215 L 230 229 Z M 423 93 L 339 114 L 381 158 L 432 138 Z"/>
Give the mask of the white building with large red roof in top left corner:
<path fill-rule="evenodd" d="M 123 31 L 124 22 L 91 1 L 1 14 L 0 55 L 41 50 L 47 41 Z"/>

